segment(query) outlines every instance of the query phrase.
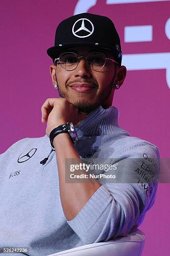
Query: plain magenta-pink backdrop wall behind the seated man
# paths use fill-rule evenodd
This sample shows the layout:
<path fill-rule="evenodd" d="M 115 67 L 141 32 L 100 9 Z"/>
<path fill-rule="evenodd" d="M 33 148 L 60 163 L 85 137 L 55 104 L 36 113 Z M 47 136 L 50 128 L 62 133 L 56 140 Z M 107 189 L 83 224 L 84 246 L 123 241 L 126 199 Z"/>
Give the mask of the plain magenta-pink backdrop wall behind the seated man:
<path fill-rule="evenodd" d="M 56 26 L 74 14 L 78 0 L 5 0 L 0 2 L 0 153 L 25 137 L 45 135 L 41 105 L 58 97 L 53 89 L 46 49 L 53 46 Z M 165 23 L 170 18 L 170 2 L 107 5 L 96 1 L 87 10 L 107 15 L 119 33 L 123 54 L 170 52 Z M 124 42 L 124 26 L 152 25 L 152 42 Z M 157 59 L 158 63 L 163 62 Z M 128 67 L 127 67 L 128 69 Z M 170 88 L 166 69 L 132 70 L 113 105 L 119 109 L 119 125 L 131 136 L 158 146 L 161 158 L 169 158 Z M 144 256 L 169 255 L 169 184 L 159 184 L 155 205 L 140 225 L 146 234 Z"/>

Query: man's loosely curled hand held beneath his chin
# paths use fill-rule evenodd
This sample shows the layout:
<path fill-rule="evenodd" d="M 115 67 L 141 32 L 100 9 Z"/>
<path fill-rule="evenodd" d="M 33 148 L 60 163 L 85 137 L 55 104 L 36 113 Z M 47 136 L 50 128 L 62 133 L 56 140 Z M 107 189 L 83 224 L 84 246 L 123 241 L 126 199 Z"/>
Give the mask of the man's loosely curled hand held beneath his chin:
<path fill-rule="evenodd" d="M 86 114 L 79 112 L 75 105 L 64 98 L 49 98 L 41 107 L 42 123 L 46 123 L 46 135 L 49 137 L 51 131 L 63 123 L 76 125 L 85 118 Z"/>

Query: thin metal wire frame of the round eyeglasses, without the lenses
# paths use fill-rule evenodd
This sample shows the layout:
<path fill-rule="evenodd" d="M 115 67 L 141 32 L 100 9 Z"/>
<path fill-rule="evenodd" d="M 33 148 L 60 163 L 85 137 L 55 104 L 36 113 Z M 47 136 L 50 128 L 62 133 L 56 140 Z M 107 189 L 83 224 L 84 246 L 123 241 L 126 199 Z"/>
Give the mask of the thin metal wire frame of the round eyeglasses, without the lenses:
<path fill-rule="evenodd" d="M 71 51 L 68 51 L 68 52 L 64 52 L 64 53 L 62 53 L 60 56 L 59 56 L 59 58 L 56 58 L 55 60 L 54 60 L 54 64 L 55 64 L 55 66 L 57 65 L 57 63 L 56 63 L 56 61 L 59 61 L 59 64 L 61 65 L 61 63 L 60 63 L 60 57 L 63 55 L 63 54 L 76 54 L 75 52 L 71 52 Z M 103 53 L 101 53 L 101 52 L 96 52 L 96 51 L 94 51 L 94 52 L 90 52 L 89 54 L 93 54 L 93 53 L 99 53 L 99 54 L 103 54 Z M 80 59 L 81 58 L 84 58 L 84 59 L 86 59 L 86 62 L 87 62 L 87 64 L 89 65 L 89 63 L 88 63 L 88 61 L 87 61 L 87 57 L 89 56 L 89 54 L 87 54 L 87 56 L 85 57 L 85 56 L 80 56 L 80 57 L 78 57 L 78 55 L 77 55 L 77 58 L 78 58 L 78 61 L 77 61 L 77 64 L 76 64 L 76 66 L 74 67 L 74 68 L 72 68 L 72 69 L 65 69 L 62 65 L 61 65 L 61 67 L 63 68 L 63 69 L 65 69 L 65 70 L 67 70 L 67 71 L 71 71 L 71 70 L 74 70 L 74 69 L 76 69 L 76 67 L 79 65 L 79 62 L 80 62 Z M 104 62 L 104 65 L 106 64 L 106 60 L 107 59 L 109 59 L 109 60 L 111 60 L 112 62 L 116 62 L 118 65 L 119 65 L 119 63 L 117 62 L 117 61 L 115 61 L 114 59 L 110 59 L 110 58 L 106 58 L 106 55 L 105 54 L 103 54 L 104 55 L 104 57 L 105 57 L 105 62 Z M 103 67 L 104 67 L 104 65 L 101 67 L 101 68 L 99 68 L 99 69 L 93 69 L 93 68 L 91 68 L 90 67 L 90 65 L 89 65 L 89 67 L 91 68 L 91 69 L 93 69 L 93 70 L 100 70 L 100 69 L 102 69 Z"/>

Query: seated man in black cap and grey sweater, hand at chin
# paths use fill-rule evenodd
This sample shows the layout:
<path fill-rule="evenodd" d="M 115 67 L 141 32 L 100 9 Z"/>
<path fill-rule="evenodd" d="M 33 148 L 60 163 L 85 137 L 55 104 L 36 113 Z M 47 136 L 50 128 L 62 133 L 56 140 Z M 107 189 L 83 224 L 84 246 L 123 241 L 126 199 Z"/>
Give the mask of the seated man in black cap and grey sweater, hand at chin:
<path fill-rule="evenodd" d="M 0 247 L 28 247 L 34 256 L 126 236 L 154 204 L 160 168 L 157 147 L 120 128 L 112 107 L 126 77 L 112 21 L 67 18 L 47 53 L 61 98 L 41 108 L 46 136 L 0 156 Z M 104 167 L 90 175 L 83 159 Z"/>

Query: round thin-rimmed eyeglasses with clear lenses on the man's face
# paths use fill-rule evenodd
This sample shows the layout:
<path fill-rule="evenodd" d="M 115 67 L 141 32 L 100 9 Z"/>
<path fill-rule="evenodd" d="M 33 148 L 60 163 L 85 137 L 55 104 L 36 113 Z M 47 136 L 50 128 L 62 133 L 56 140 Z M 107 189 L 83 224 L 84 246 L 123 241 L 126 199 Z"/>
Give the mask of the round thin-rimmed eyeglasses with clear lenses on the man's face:
<path fill-rule="evenodd" d="M 57 61 L 59 61 L 59 64 L 63 69 L 73 70 L 76 69 L 81 58 L 86 59 L 89 67 L 94 70 L 102 69 L 106 64 L 106 60 L 109 59 L 106 58 L 105 54 L 101 52 L 91 52 L 86 57 L 78 57 L 78 55 L 74 52 L 65 52 L 61 54 L 59 58 L 54 60 L 54 64 L 57 65 Z M 117 61 L 115 61 L 114 59 L 109 60 L 117 63 Z M 117 64 L 119 65 L 119 63 Z"/>

